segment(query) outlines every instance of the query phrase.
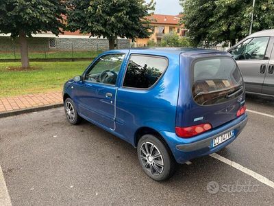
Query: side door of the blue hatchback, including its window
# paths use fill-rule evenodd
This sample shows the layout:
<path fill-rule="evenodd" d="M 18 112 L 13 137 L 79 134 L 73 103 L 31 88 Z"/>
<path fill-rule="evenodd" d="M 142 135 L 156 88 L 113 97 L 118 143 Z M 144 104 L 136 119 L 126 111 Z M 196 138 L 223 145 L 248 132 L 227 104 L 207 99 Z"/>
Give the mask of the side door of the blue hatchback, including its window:
<path fill-rule="evenodd" d="M 116 82 L 125 54 L 100 56 L 84 73 L 84 80 L 73 85 L 73 96 L 80 115 L 95 124 L 114 129 Z"/>

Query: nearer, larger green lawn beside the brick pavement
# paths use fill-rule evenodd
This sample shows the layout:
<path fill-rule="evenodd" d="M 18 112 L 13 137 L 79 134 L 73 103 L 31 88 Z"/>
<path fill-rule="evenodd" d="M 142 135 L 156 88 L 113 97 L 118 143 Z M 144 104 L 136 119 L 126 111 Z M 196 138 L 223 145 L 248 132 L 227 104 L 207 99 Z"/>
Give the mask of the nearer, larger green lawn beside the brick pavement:
<path fill-rule="evenodd" d="M 90 61 L 30 62 L 20 71 L 21 62 L 0 62 L 0 98 L 29 93 L 62 91 L 66 80 L 81 75 Z"/>

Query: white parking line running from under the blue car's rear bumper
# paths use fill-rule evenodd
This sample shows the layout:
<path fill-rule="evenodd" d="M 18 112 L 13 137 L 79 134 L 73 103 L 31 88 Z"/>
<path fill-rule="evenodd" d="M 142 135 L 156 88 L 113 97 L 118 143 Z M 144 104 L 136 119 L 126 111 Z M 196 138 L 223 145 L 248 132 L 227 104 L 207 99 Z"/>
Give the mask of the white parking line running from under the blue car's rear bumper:
<path fill-rule="evenodd" d="M 222 161 L 223 163 L 226 163 L 227 165 L 232 166 L 233 168 L 236 168 L 237 170 L 240 170 L 241 172 L 244 172 L 245 174 L 248 174 L 249 176 L 252 176 L 254 179 L 260 181 L 261 183 L 264 183 L 265 185 L 269 185 L 269 187 L 272 187 L 274 189 L 274 183 L 273 181 L 270 181 L 266 177 L 258 174 L 257 172 L 253 172 L 252 170 L 249 170 L 245 168 L 244 166 L 231 161 L 229 159 L 226 159 L 225 157 L 222 157 L 221 155 L 218 155 L 216 153 L 213 153 L 210 155 L 211 157 L 218 159 L 219 161 Z"/>

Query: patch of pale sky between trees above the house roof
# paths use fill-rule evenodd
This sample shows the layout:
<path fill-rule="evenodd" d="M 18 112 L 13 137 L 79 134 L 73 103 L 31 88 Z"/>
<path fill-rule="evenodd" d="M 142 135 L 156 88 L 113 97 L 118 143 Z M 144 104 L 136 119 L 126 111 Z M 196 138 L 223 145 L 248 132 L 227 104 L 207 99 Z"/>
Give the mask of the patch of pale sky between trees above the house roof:
<path fill-rule="evenodd" d="M 150 0 L 146 0 L 149 2 Z M 177 15 L 182 12 L 182 5 L 179 5 L 179 0 L 154 0 L 156 2 L 155 14 Z"/>

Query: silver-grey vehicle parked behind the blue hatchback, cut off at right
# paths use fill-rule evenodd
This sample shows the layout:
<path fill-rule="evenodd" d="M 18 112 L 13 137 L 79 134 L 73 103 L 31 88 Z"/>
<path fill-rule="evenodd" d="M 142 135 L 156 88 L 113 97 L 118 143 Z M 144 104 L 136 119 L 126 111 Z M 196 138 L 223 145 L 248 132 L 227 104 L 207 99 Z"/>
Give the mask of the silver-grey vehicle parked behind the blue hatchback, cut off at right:
<path fill-rule="evenodd" d="M 242 71 L 247 93 L 274 97 L 274 30 L 256 32 L 227 50 Z"/>

